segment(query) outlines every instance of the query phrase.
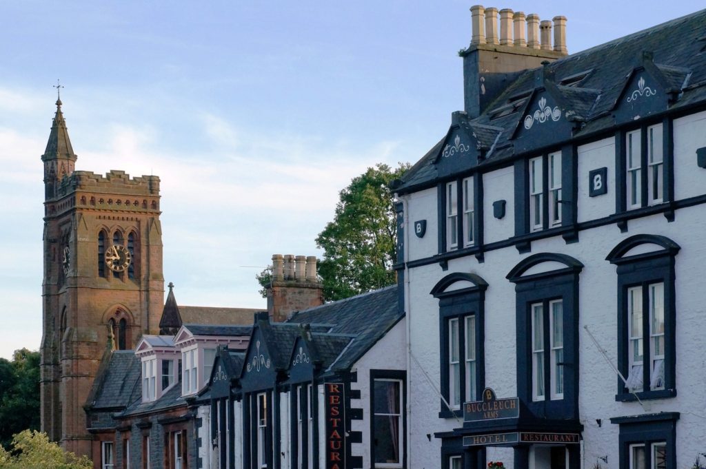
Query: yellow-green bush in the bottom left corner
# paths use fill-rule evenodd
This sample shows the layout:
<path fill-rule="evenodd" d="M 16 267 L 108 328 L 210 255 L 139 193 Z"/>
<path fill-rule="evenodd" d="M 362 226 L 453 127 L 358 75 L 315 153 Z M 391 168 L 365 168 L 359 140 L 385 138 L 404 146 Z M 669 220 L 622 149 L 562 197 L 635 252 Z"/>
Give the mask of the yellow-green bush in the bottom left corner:
<path fill-rule="evenodd" d="M 12 439 L 11 451 L 0 446 L 0 469 L 92 469 L 86 456 L 78 458 L 49 441 L 47 434 L 23 430 Z"/>

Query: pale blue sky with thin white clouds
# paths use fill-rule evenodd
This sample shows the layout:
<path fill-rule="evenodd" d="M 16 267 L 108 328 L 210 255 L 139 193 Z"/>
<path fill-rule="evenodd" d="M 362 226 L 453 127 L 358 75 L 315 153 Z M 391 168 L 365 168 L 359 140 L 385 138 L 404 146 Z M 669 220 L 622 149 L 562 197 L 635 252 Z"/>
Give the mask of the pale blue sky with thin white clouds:
<path fill-rule="evenodd" d="M 0 3 L 0 357 L 37 349 L 42 162 L 60 78 L 77 169 L 162 179 L 165 283 L 182 305 L 265 307 L 274 253 L 318 255 L 337 192 L 415 162 L 462 109 L 460 0 Z M 690 2 L 486 4 L 568 18 L 570 52 Z"/>

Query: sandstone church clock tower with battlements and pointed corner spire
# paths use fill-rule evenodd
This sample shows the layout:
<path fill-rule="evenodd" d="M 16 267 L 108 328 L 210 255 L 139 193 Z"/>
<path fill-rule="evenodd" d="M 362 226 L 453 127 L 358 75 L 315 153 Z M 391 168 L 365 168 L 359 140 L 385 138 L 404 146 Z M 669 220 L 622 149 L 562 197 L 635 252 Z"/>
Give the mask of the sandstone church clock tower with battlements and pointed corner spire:
<path fill-rule="evenodd" d="M 159 331 L 160 178 L 75 171 L 60 99 L 42 162 L 42 430 L 90 456 L 83 406 L 104 351 Z"/>

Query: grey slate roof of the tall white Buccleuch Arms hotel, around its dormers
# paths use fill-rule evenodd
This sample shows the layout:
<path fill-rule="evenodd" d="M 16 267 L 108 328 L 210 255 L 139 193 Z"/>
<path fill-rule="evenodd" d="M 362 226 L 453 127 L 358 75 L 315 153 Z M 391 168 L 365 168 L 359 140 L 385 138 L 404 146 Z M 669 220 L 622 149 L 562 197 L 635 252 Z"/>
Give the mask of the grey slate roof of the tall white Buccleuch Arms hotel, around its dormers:
<path fill-rule="evenodd" d="M 496 141 L 485 155 L 486 159 L 478 166 L 501 164 L 519 156 L 511 137 L 523 116 L 522 109 L 501 117 L 492 111 L 512 102 L 518 95 L 532 92 L 539 74 L 556 85 L 567 110 L 573 111 L 583 122 L 575 130 L 574 138 L 605 132 L 614 126 L 611 110 L 630 74 L 645 61 L 645 51 L 651 54 L 652 69 L 659 73 L 657 78 L 666 85 L 667 92 L 670 89 L 681 91 L 676 102 L 669 106 L 670 111 L 706 102 L 705 35 L 706 10 L 702 10 L 565 56 L 549 63 L 546 68 L 521 73 L 480 116 L 469 119 L 468 125 L 472 128 L 492 126 L 502 129 L 496 134 Z M 572 83 L 573 86 L 561 85 L 562 80 L 583 73 L 585 78 Z M 480 135 L 479 142 L 487 145 L 491 136 Z M 395 187 L 397 192 L 412 192 L 436 183 L 433 160 L 441 151 L 441 145 L 443 140 L 402 176 Z"/>

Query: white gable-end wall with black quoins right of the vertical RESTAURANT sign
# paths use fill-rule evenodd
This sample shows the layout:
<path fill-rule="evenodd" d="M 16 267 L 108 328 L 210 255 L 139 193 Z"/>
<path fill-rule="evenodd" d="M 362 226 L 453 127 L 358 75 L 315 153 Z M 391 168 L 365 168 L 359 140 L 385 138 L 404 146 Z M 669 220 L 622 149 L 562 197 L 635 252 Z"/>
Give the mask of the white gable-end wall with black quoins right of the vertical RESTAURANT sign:
<path fill-rule="evenodd" d="M 360 399 L 351 399 L 351 407 L 362 409 L 363 418 L 362 420 L 352 420 L 351 430 L 361 432 L 363 437 L 361 443 L 351 444 L 351 453 L 353 456 L 363 457 L 364 468 L 373 467 L 370 461 L 370 370 L 405 370 L 407 367 L 405 357 L 406 328 L 405 319 L 397 322 L 397 324 L 395 324 L 395 326 L 352 367 L 352 371 L 358 373 L 358 381 L 351 383 L 351 388 L 360 391 Z M 404 389 L 400 389 L 400 391 L 402 392 Z M 402 409 L 402 415 L 404 415 L 404 411 L 405 410 Z M 409 425 L 409 422 L 407 422 L 407 425 Z M 412 466 L 408 464 L 407 467 Z"/>

